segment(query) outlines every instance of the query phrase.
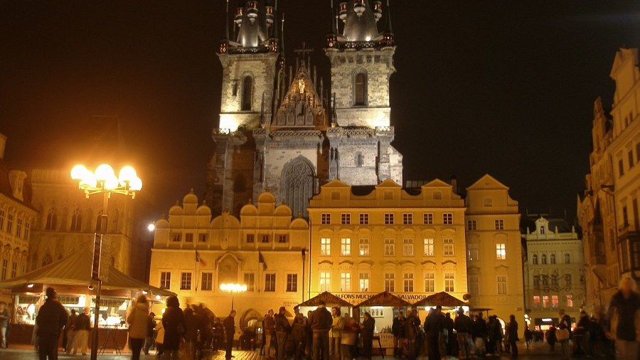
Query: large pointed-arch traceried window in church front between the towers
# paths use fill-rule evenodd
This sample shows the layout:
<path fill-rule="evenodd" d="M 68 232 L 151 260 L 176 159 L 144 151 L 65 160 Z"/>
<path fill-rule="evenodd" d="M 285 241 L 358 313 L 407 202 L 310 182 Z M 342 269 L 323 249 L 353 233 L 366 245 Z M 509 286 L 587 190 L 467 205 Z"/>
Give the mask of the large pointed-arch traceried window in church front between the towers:
<path fill-rule="evenodd" d="M 306 207 L 314 195 L 315 173 L 309 160 L 299 156 L 282 170 L 282 200 L 291 207 L 294 216 L 307 217 Z"/>

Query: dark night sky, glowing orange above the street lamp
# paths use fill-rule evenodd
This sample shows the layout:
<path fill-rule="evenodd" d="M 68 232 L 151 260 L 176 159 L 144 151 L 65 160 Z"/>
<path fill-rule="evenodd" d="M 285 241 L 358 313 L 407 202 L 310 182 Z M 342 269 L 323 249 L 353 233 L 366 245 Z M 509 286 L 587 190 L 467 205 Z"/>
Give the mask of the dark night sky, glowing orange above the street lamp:
<path fill-rule="evenodd" d="M 640 46 L 638 3 L 392 0 L 391 123 L 405 180 L 456 175 L 467 187 L 490 173 L 523 211 L 575 214 L 593 102 L 612 103 L 616 50 Z M 119 119 L 130 156 L 120 159 L 139 169 L 159 213 L 191 187 L 202 195 L 224 4 L 0 0 L 5 159 L 70 168 Z M 304 41 L 329 80 L 329 1 L 279 6 L 289 60 Z"/>

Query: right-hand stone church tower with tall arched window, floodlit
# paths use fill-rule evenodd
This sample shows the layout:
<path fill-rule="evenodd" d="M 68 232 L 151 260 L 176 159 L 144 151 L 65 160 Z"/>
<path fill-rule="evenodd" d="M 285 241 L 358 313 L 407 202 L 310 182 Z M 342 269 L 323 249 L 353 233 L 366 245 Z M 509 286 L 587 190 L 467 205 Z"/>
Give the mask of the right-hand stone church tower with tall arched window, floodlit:
<path fill-rule="evenodd" d="M 333 3 L 332 3 L 333 4 Z M 402 184 L 402 155 L 391 146 L 389 79 L 395 41 L 389 0 L 350 0 L 332 9 L 325 53 L 331 62 L 331 180 Z M 384 18 L 384 19 L 383 19 Z"/>

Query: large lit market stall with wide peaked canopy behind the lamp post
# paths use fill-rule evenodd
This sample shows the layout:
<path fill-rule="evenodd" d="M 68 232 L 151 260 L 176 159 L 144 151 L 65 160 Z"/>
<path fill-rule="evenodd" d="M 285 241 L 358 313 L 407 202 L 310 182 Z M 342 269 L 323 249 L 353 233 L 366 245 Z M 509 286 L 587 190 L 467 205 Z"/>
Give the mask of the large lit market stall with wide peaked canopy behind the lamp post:
<path fill-rule="evenodd" d="M 81 313 L 85 307 L 95 310 L 95 281 L 91 279 L 92 252 L 87 249 L 75 253 L 31 273 L 23 274 L 0 282 L 0 288 L 10 289 L 13 300 L 11 317 L 11 342 L 30 344 L 33 342 L 33 326 L 38 310 L 45 300 L 45 290 L 53 287 L 58 292 L 58 300 L 70 312 Z M 99 337 L 106 342 L 107 335 L 116 339 L 113 343 L 124 346 L 127 328 L 124 318 L 132 300 L 139 294 L 147 294 L 153 305 L 160 304 L 163 297 L 175 295 L 168 290 L 156 288 L 131 278 L 111 267 L 107 280 L 102 283 L 100 300 Z M 156 312 L 162 305 L 156 305 Z M 93 316 L 90 316 L 93 320 Z M 102 344 L 102 343 L 100 343 Z M 110 344 L 111 345 L 111 344 Z M 101 345 L 102 346 L 102 345 Z"/>

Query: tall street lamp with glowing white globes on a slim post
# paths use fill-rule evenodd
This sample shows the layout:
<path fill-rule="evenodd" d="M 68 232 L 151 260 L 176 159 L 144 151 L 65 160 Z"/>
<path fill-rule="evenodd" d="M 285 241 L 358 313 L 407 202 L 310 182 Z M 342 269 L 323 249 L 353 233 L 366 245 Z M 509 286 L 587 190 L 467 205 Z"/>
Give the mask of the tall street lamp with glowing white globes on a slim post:
<path fill-rule="evenodd" d="M 90 195 L 102 194 L 102 214 L 100 214 L 99 229 L 93 238 L 93 263 L 91 278 L 96 281 L 95 291 L 95 315 L 91 338 L 91 360 L 97 359 L 98 348 L 98 324 L 100 323 L 100 290 L 102 281 L 107 281 L 109 266 L 100 271 L 100 253 L 102 252 L 102 240 L 107 234 L 107 208 L 112 194 L 122 194 L 136 197 L 136 192 L 142 189 L 142 180 L 138 178 L 136 170 L 131 166 L 125 166 L 116 177 L 110 165 L 102 164 L 95 169 L 95 173 L 87 170 L 82 165 L 75 165 L 71 169 L 71 178 L 78 181 L 78 188 L 85 192 L 87 199 Z M 97 227 L 98 228 L 98 227 Z"/>

